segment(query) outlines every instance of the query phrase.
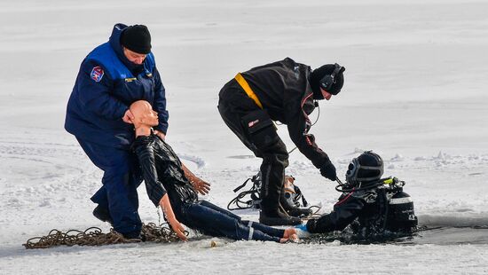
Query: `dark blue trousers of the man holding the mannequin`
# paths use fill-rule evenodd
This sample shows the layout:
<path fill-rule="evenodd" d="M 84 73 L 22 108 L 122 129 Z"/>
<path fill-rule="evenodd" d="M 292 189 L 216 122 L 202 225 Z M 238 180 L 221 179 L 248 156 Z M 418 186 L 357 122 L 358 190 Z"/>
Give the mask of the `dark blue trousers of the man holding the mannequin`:
<path fill-rule="evenodd" d="M 77 139 L 93 164 L 104 171 L 103 186 L 91 200 L 108 209 L 116 232 L 138 234 L 142 223 L 137 188 L 142 178 L 135 156 L 129 151 Z"/>

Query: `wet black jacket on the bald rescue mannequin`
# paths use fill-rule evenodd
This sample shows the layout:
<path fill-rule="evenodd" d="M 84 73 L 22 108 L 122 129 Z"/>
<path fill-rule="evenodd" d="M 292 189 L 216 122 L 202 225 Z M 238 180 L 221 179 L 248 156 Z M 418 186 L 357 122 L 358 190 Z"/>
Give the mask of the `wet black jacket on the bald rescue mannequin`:
<path fill-rule="evenodd" d="M 194 202 L 198 195 L 185 177 L 181 161 L 171 147 L 161 138 L 151 134 L 138 137 L 132 145 L 146 183 L 147 194 L 155 206 L 165 193 L 172 205 Z"/>

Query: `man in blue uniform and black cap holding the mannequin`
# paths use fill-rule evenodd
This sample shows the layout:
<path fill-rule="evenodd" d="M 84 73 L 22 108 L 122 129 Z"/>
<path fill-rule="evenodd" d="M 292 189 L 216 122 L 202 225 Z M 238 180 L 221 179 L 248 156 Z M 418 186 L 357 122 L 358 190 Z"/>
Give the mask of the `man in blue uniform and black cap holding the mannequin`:
<path fill-rule="evenodd" d="M 65 129 L 104 171 L 103 186 L 91 197 L 98 204 L 93 215 L 130 239 L 138 238 L 141 230 L 137 187 L 142 177 L 130 153 L 134 133 L 129 106 L 140 99 L 157 112 L 154 130 L 164 139 L 168 111 L 149 30 L 116 24 L 109 41 L 83 59 L 67 103 Z"/>

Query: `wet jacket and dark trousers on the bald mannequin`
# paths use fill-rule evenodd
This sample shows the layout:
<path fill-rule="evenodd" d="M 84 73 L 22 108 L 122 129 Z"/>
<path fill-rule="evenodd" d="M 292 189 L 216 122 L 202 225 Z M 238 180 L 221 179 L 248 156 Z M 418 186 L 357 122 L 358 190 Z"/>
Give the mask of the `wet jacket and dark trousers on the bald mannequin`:
<path fill-rule="evenodd" d="M 233 240 L 273 240 L 279 242 L 284 230 L 243 221 L 240 216 L 219 208 L 197 193 L 185 177 L 181 161 L 171 147 L 154 134 L 138 137 L 132 145 L 143 171 L 147 194 L 155 206 L 168 193 L 173 212 L 180 223 L 214 237 Z"/>

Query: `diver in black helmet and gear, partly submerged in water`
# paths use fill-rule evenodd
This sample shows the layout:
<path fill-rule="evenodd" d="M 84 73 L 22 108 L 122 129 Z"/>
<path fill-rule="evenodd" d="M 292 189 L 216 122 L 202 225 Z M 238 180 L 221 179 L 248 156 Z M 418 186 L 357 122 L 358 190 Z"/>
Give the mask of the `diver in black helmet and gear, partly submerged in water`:
<path fill-rule="evenodd" d="M 342 195 L 334 210 L 296 227 L 310 233 L 327 233 L 349 226 L 359 238 L 413 232 L 417 216 L 411 197 L 403 192 L 405 182 L 382 175 L 382 157 L 371 151 L 361 153 L 350 162 L 346 183 L 339 182 L 335 188 Z"/>

